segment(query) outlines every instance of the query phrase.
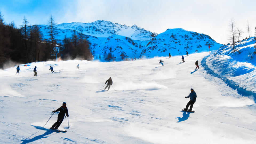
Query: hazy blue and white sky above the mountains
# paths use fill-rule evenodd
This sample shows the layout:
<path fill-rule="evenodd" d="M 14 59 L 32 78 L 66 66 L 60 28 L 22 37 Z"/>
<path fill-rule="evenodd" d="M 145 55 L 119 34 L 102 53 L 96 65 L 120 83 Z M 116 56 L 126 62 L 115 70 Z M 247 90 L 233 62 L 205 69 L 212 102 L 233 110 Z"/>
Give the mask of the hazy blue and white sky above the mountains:
<path fill-rule="evenodd" d="M 111 21 L 162 33 L 181 27 L 204 33 L 226 44 L 231 18 L 234 18 L 243 38 L 255 35 L 256 1 L 248 0 L 0 0 L 0 11 L 6 23 L 22 25 L 24 16 L 31 25 L 47 24 L 52 14 L 56 23 Z"/>

